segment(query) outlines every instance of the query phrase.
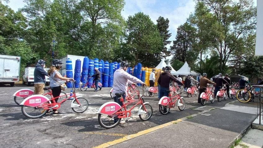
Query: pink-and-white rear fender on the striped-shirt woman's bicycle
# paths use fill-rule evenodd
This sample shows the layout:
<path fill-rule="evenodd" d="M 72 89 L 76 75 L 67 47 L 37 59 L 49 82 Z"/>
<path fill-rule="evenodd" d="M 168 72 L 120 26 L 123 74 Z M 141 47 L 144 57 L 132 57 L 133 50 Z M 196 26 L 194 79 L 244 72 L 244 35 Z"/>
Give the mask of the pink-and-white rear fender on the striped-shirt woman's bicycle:
<path fill-rule="evenodd" d="M 46 96 L 43 96 L 43 95 L 32 95 L 32 96 L 29 96 L 27 98 L 25 98 L 25 100 L 23 100 L 20 105 L 25 105 L 25 106 L 32 106 L 32 107 L 35 107 L 35 106 L 38 106 L 44 102 L 48 101 L 49 103 L 50 100 L 46 97 Z"/>

